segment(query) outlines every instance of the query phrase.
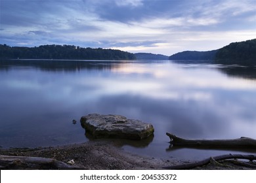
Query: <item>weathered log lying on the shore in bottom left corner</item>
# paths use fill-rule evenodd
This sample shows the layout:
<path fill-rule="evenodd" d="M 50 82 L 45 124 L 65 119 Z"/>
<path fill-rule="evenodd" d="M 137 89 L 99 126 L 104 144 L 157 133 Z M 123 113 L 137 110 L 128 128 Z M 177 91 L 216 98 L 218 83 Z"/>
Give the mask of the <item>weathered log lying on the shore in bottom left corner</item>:
<path fill-rule="evenodd" d="M 81 169 L 51 158 L 0 155 L 0 169 Z"/>

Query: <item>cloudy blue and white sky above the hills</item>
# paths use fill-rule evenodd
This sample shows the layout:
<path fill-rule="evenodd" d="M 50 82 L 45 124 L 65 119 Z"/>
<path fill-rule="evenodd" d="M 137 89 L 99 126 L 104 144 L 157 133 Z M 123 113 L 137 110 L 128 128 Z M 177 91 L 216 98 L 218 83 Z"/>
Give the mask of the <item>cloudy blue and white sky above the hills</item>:
<path fill-rule="evenodd" d="M 256 0 L 0 0 L 0 44 L 171 56 L 256 38 Z"/>

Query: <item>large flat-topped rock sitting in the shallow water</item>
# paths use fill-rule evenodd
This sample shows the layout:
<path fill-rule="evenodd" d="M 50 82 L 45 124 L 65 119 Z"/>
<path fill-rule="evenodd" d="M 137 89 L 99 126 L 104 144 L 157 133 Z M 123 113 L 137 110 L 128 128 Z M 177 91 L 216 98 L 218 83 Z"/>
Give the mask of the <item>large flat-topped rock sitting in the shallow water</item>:
<path fill-rule="evenodd" d="M 95 138 L 144 139 L 154 133 L 152 124 L 119 115 L 88 114 L 81 117 L 86 133 Z"/>

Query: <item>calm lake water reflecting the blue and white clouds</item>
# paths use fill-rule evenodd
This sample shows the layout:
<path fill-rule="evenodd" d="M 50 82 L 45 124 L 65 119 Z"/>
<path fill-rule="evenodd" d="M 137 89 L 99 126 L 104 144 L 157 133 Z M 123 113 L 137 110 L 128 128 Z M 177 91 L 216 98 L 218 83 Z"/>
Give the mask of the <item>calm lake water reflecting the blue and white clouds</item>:
<path fill-rule="evenodd" d="M 81 116 L 120 114 L 155 128 L 154 137 L 145 141 L 118 140 L 125 150 L 157 158 L 202 159 L 230 151 L 168 150 L 165 133 L 189 139 L 256 139 L 255 94 L 255 67 L 172 61 L 0 61 L 0 146 L 90 141 L 79 124 Z"/>

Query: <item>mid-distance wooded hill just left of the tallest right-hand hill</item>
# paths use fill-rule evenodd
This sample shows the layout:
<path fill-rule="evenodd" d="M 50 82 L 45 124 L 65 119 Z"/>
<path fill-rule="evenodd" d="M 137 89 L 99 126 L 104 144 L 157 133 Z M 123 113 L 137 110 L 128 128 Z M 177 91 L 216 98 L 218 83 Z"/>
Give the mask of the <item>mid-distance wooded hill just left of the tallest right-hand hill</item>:
<path fill-rule="evenodd" d="M 206 52 L 198 52 L 198 51 L 184 51 L 179 52 L 177 54 L 173 54 L 172 56 L 169 56 L 169 59 L 172 60 L 204 60 L 204 61 L 212 61 L 215 59 L 215 54 L 217 50 L 211 50 Z"/>

